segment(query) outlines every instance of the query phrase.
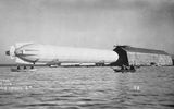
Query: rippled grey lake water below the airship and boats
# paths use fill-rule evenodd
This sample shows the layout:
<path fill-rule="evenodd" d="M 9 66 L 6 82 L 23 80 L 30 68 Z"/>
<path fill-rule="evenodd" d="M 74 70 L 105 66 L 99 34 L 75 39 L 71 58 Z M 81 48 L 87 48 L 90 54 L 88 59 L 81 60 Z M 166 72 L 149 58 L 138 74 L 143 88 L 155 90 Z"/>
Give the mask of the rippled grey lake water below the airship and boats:
<path fill-rule="evenodd" d="M 0 109 L 174 109 L 174 68 L 0 68 Z"/>

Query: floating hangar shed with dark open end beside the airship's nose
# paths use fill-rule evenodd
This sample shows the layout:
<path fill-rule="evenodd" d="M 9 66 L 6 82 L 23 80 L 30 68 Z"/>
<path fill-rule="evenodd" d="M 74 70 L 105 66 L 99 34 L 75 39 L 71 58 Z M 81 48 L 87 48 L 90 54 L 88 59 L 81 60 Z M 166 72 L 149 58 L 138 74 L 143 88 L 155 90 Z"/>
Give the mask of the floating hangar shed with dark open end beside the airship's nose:
<path fill-rule="evenodd" d="M 172 65 L 172 57 L 162 50 L 115 46 L 119 60 L 112 65 Z"/>

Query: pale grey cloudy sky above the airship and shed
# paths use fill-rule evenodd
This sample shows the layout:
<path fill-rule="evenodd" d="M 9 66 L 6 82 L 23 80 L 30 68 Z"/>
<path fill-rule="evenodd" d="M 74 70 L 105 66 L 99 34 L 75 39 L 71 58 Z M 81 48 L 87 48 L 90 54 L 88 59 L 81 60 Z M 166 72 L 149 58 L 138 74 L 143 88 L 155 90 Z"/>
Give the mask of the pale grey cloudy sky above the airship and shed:
<path fill-rule="evenodd" d="M 16 43 L 174 53 L 174 0 L 0 0 L 0 63 Z"/>

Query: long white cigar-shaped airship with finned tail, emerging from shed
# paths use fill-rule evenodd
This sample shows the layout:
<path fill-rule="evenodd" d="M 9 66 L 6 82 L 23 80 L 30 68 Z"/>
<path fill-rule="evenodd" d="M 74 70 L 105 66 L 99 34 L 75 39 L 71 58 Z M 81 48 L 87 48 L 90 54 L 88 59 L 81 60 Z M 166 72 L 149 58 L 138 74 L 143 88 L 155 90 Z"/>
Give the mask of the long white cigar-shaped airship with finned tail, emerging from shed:
<path fill-rule="evenodd" d="M 35 43 L 18 43 L 5 51 L 7 56 L 22 64 L 48 65 L 109 65 L 119 55 L 113 50 L 60 47 Z M 33 66 L 32 66 L 33 68 Z"/>

